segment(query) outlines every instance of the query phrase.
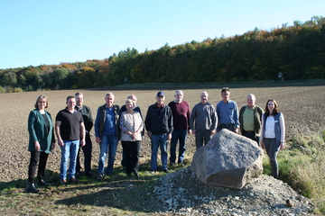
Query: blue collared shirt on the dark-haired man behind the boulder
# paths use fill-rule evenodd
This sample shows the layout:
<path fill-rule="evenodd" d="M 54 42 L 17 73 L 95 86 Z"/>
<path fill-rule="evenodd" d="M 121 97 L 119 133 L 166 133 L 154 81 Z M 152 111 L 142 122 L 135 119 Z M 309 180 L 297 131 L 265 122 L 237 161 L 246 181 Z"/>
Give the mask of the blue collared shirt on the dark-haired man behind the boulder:
<path fill-rule="evenodd" d="M 229 100 L 228 103 L 220 101 L 217 104 L 217 114 L 219 124 L 234 124 L 239 128 L 237 103 Z"/>

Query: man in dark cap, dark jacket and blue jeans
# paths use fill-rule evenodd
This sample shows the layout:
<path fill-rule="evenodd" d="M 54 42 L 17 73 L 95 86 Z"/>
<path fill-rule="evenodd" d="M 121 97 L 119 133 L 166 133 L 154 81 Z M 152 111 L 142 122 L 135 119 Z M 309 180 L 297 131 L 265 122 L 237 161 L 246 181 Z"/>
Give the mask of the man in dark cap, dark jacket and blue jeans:
<path fill-rule="evenodd" d="M 145 129 L 152 142 L 152 157 L 150 173 L 154 174 L 157 170 L 157 152 L 161 149 L 161 158 L 163 172 L 168 173 L 167 167 L 167 145 L 168 139 L 172 139 L 172 109 L 163 103 L 165 95 L 158 92 L 156 96 L 157 103 L 148 107 L 145 117 Z"/>

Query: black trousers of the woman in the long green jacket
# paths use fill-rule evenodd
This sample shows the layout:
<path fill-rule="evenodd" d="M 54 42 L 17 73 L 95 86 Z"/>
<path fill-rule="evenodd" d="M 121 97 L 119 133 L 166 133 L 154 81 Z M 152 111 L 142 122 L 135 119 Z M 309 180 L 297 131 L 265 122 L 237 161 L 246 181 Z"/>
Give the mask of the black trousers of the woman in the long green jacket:
<path fill-rule="evenodd" d="M 43 151 L 31 151 L 31 160 L 28 166 L 28 182 L 34 182 L 34 176 L 36 173 L 36 167 L 38 164 L 37 178 L 39 180 L 44 178 L 44 172 L 46 167 L 47 158 L 49 157 L 48 153 Z"/>

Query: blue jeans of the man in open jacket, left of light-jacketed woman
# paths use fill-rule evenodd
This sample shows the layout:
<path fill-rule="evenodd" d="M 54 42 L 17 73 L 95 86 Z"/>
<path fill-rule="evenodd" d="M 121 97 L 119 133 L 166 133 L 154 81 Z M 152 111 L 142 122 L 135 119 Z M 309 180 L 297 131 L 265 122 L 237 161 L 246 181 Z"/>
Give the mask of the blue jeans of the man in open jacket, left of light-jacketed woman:
<path fill-rule="evenodd" d="M 101 143 L 99 144 L 100 155 L 98 161 L 98 174 L 104 175 L 105 161 L 108 151 L 108 165 L 107 165 L 107 175 L 113 172 L 114 161 L 116 157 L 118 139 L 116 139 L 115 134 L 104 134 Z"/>

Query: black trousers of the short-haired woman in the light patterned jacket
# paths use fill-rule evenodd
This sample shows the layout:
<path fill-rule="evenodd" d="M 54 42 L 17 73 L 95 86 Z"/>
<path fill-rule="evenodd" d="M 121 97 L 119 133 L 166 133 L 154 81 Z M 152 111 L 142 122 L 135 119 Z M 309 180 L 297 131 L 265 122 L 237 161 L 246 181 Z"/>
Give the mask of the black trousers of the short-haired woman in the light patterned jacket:
<path fill-rule="evenodd" d="M 138 171 L 141 141 L 122 141 L 122 147 L 125 154 L 124 163 L 126 171 Z"/>

